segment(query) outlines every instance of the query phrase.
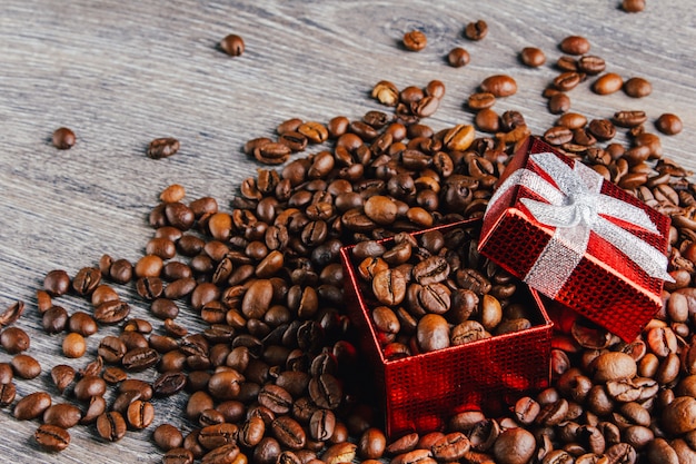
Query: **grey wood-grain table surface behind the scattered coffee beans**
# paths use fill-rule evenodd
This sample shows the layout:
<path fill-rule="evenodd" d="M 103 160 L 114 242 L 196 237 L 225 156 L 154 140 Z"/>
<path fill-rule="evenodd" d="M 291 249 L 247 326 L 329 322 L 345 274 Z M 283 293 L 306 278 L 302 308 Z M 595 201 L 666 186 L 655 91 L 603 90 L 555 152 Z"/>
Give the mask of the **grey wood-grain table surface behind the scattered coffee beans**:
<path fill-rule="evenodd" d="M 508 73 L 519 90 L 495 109 L 521 111 L 531 131 L 541 134 L 556 119 L 541 91 L 558 73 L 558 43 L 584 36 L 591 55 L 605 58 L 607 71 L 644 77 L 653 93 L 599 97 L 585 83 L 569 93 L 573 110 L 591 119 L 642 109 L 653 132 L 660 113 L 676 113 L 684 131 L 663 137 L 665 157 L 696 169 L 696 13 L 688 1 L 647 3 L 632 14 L 618 0 L 3 0 L 0 308 L 27 303 L 19 326 L 32 336 L 28 353 L 43 366 L 38 379 L 18 381 L 18 396 L 48 389 L 61 401 L 48 374 L 66 362 L 61 336 L 43 334 L 36 308 L 47 272 L 73 275 L 105 253 L 137 260 L 152 234 L 147 214 L 166 186 L 181 184 L 188 199 L 213 196 L 225 207 L 259 167 L 241 152 L 245 141 L 272 136 L 291 117 L 327 122 L 384 109 L 369 98 L 379 80 L 399 88 L 444 81 L 447 95 L 426 121 L 441 129 L 470 124 L 468 95 L 485 77 Z M 489 24 L 488 36 L 465 39 L 464 26 L 478 19 Z M 425 50 L 400 47 L 409 29 L 425 31 Z M 216 48 L 232 32 L 246 41 L 241 57 Z M 455 46 L 469 51 L 468 66 L 446 63 Z M 541 48 L 547 65 L 523 67 L 517 56 L 527 46 Z M 61 126 L 77 134 L 70 150 L 50 144 Z M 145 149 L 157 137 L 178 138 L 180 151 L 149 159 Z M 80 307 L 69 298 L 62 304 Z M 98 337 L 88 343 L 95 353 Z M 9 359 L 0 353 L 0 362 Z M 155 425 L 177 423 L 180 404 L 163 404 Z M 148 442 L 155 425 L 118 444 L 77 427 L 68 450 L 48 455 L 32 438 L 37 421 L 18 422 L 6 411 L 0 455 L 4 462 L 159 462 L 160 452 Z"/>

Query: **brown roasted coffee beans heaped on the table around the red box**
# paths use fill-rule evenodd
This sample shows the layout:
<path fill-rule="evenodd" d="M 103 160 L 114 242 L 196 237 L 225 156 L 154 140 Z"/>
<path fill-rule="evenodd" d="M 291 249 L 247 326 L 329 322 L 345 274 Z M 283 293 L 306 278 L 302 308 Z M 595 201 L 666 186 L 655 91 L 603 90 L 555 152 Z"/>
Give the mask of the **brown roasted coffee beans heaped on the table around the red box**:
<path fill-rule="evenodd" d="M 638 3 L 624 8 L 637 11 Z M 486 30 L 479 21 L 466 33 L 477 40 Z M 425 46 L 416 39 L 411 47 Z M 232 53 L 241 53 L 239 42 L 230 41 Z M 176 419 L 150 431 L 166 464 L 695 461 L 696 187 L 690 172 L 664 157 L 645 113 L 618 110 L 588 120 L 569 112 L 567 92 L 604 72 L 605 63 L 587 55 L 581 37 L 560 48 L 580 58 L 559 59 L 561 72 L 544 91 L 551 112 L 560 115 L 545 139 L 673 219 L 675 282 L 665 286 L 664 310 L 637 339 L 625 343 L 569 317 L 553 340 L 553 386 L 519 398 L 508 415 L 474 408 L 454 414 L 445 431 L 385 435 L 346 316 L 339 250 L 385 238 L 400 246 L 408 243 L 404 233 L 480 217 L 531 130 L 518 111 L 479 118 L 517 90 L 510 76 L 486 79 L 468 99 L 475 124 L 491 134 L 481 137 L 474 125 L 436 130 L 422 122 L 445 97 L 443 82 L 399 90 L 380 81 L 372 97 L 392 112 L 337 116 L 327 124 L 296 118 L 279 125 L 277 140 L 247 142 L 248 156 L 284 166 L 245 179 L 230 208 L 211 197 L 187 200 L 183 187 L 168 187 L 150 214 L 153 236 L 136 263 L 105 255 L 73 276 L 47 273 L 29 310 L 41 314 L 47 335 L 64 334 L 67 359 L 90 358 L 79 369 L 41 366 L 24 353 L 31 351 L 21 329 L 26 305 L 10 305 L 0 314 L 0 344 L 12 355 L 0 364 L 0 406 L 18 421 L 37 421 L 36 443 L 58 452 L 69 446 L 76 426 L 106 442 L 142 433 L 165 415 L 159 405 L 177 395 L 185 398 L 180 414 L 167 414 Z M 520 59 L 539 66 L 539 51 L 526 49 Z M 649 93 L 649 82 L 629 81 L 606 73 L 593 89 Z M 665 134 L 680 130 L 675 115 L 659 120 Z M 613 142 L 624 128 L 629 144 Z M 309 144 L 321 150 L 290 160 Z M 162 158 L 178 149 L 167 138 L 153 140 L 147 152 Z M 416 248 L 432 254 L 430 245 Z M 439 266 L 428 259 L 422 263 Z M 118 287 L 132 288 L 132 300 Z M 391 304 L 394 294 L 380 298 Z M 484 294 L 490 295 L 481 299 Z M 81 300 L 83 309 L 69 314 L 60 304 L 67 297 Z M 490 305 L 497 318 L 497 305 Z M 198 315 L 200 326 L 180 325 L 180 312 Z M 440 326 L 450 330 L 454 323 Z M 117 334 L 102 335 L 97 353 L 86 352 L 84 338 L 108 327 Z M 390 326 L 385 332 L 392 333 Z M 431 337 L 420 338 L 420 349 L 434 348 L 427 346 Z M 16 397 L 17 383 L 47 374 L 46 391 Z"/>

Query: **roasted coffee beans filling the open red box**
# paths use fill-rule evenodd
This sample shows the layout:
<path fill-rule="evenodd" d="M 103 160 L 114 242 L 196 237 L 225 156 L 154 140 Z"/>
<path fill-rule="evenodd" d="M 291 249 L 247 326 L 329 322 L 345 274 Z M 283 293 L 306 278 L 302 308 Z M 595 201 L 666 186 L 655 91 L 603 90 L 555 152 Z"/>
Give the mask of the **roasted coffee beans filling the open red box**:
<path fill-rule="evenodd" d="M 518 280 L 478 254 L 478 234 L 471 226 L 399 233 L 351 249 L 386 359 L 531 327 Z"/>

